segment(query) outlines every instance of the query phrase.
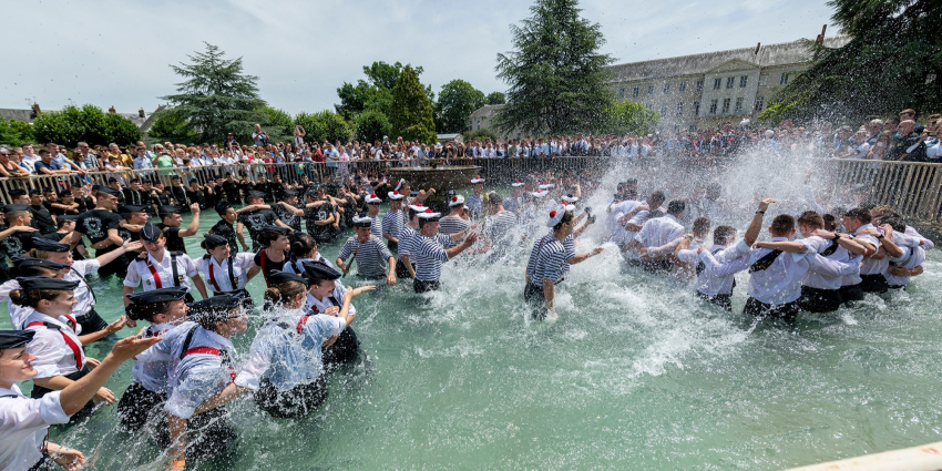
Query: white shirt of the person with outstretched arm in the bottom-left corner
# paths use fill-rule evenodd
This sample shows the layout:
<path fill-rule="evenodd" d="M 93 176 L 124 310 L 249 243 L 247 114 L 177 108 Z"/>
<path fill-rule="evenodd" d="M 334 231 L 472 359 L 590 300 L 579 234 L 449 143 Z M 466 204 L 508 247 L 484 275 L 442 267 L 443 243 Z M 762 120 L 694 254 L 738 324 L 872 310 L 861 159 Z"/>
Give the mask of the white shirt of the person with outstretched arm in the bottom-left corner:
<path fill-rule="evenodd" d="M 49 426 L 69 422 L 59 395 L 52 391 L 41 399 L 27 399 L 17 385 L 0 388 L 0 469 L 28 470 L 42 459 Z"/>

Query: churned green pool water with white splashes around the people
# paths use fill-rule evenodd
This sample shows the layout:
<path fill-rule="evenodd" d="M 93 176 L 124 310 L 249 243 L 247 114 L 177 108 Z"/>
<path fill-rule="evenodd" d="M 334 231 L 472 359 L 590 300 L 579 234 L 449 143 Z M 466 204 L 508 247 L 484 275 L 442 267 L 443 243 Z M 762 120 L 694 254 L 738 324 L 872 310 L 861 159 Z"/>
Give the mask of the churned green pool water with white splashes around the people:
<path fill-rule="evenodd" d="M 204 213 L 201 228 L 215 221 Z M 198 240 L 187 242 L 193 256 Z M 332 260 L 341 243 L 321 252 Z M 238 447 L 199 469 L 767 470 L 942 436 L 935 252 L 908 293 L 790 326 L 622 273 L 611 250 L 573 267 L 557 322 L 534 324 L 522 315 L 523 264 L 465 257 L 427 298 L 410 283 L 357 298 L 364 358 L 331 376 L 324 407 L 280 420 L 238 401 Z M 123 311 L 120 283 L 92 281 L 106 320 Z M 263 286 L 249 284 L 256 299 Z M 254 316 L 237 347 L 247 351 L 259 322 Z M 130 378 L 129 362 L 107 387 L 120 395 Z M 83 450 L 94 469 L 160 469 L 161 450 L 117 431 L 114 413 L 102 407 L 51 439 Z"/>

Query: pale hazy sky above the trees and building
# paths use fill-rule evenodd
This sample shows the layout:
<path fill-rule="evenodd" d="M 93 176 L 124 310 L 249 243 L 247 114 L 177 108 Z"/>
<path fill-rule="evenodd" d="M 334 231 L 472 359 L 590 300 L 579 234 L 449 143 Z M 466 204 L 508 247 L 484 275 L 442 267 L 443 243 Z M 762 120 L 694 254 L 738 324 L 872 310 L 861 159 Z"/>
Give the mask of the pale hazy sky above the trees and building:
<path fill-rule="evenodd" d="M 438 93 L 454 79 L 490 93 L 505 84 L 496 54 L 530 16 L 515 0 L 33 0 L 4 8 L 0 107 L 91 103 L 147 113 L 175 91 L 168 64 L 218 45 L 243 58 L 260 96 L 288 113 L 332 110 L 337 88 L 373 61 L 421 65 Z M 813 39 L 825 0 L 582 0 L 615 63 Z M 13 20 L 13 19 L 29 19 Z M 837 31 L 829 24 L 828 35 Z"/>

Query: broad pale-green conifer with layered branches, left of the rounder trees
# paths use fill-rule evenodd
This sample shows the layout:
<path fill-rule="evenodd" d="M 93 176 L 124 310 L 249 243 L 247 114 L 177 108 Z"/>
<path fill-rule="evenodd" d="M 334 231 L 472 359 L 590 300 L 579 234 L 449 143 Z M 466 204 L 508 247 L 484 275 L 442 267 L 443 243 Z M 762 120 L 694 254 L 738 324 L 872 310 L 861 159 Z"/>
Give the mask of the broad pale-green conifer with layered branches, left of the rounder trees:
<path fill-rule="evenodd" d="M 258 98 L 258 78 L 242 71 L 242 58 L 226 59 L 218 47 L 206 44 L 205 52 L 187 55 L 192 63 L 171 64 L 184 79 L 176 94 L 162 96 L 203 142 L 223 142 L 232 132 L 248 142 L 256 123 L 265 121 L 265 101 Z"/>

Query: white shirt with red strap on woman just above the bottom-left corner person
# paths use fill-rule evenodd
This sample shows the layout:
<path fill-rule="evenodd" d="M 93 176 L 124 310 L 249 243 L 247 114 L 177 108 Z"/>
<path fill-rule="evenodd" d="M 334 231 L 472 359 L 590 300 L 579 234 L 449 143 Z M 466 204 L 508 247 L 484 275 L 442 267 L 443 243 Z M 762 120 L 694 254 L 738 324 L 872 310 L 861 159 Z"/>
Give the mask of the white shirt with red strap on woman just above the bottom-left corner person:
<path fill-rule="evenodd" d="M 71 327 L 66 326 L 65 322 L 53 319 L 50 316 L 47 316 L 42 313 L 33 311 L 29 317 L 23 321 L 23 326 L 28 326 L 32 322 L 44 322 L 51 324 L 59 329 L 55 328 L 47 328 L 43 326 L 31 327 L 31 330 L 35 330 L 35 336 L 33 336 L 32 341 L 27 345 L 27 351 L 29 351 L 32 356 L 35 357 L 35 360 L 32 361 L 33 368 L 37 369 L 37 378 L 52 378 L 54 376 L 66 376 L 72 375 L 75 371 L 81 369 L 81 366 L 85 365 L 85 351 L 82 349 L 82 341 L 79 340 L 79 334 L 75 330 L 72 330 Z M 75 329 L 81 331 L 80 326 L 75 325 Z M 65 339 L 62 336 L 66 336 L 72 340 L 72 345 L 78 347 L 79 355 L 79 364 L 75 361 L 76 351 L 72 350 L 72 348 L 66 344 Z"/>

